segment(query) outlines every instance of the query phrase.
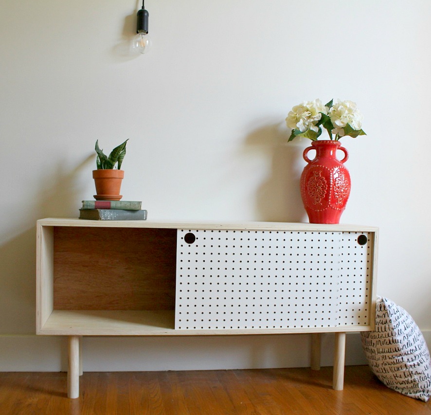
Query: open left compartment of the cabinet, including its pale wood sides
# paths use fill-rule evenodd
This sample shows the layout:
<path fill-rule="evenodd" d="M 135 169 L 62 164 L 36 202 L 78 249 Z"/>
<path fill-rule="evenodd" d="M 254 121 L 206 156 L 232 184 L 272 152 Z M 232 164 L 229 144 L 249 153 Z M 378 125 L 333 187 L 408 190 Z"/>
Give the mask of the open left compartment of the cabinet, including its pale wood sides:
<path fill-rule="evenodd" d="M 38 334 L 174 328 L 175 229 L 42 226 L 39 231 Z"/>

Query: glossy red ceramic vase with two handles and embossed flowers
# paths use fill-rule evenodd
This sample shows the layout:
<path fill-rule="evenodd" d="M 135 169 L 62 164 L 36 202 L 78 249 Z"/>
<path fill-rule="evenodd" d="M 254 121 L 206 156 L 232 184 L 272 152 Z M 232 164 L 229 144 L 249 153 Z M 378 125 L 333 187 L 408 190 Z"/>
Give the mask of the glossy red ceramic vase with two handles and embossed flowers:
<path fill-rule="evenodd" d="M 308 152 L 316 150 L 313 160 Z M 344 158 L 337 160 L 337 150 Z M 301 175 L 301 196 L 310 223 L 340 223 L 340 217 L 350 195 L 350 175 L 344 167 L 349 153 L 333 140 L 313 141 L 303 153 L 307 165 Z"/>

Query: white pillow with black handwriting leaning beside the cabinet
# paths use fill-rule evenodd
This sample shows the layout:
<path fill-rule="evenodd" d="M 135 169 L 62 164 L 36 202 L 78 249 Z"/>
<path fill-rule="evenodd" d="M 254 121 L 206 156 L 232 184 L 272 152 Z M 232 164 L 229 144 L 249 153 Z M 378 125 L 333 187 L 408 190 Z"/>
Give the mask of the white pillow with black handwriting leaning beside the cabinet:
<path fill-rule="evenodd" d="M 431 396 L 430 352 L 419 327 L 402 307 L 377 298 L 375 331 L 361 332 L 373 373 L 388 388 L 425 402 Z"/>

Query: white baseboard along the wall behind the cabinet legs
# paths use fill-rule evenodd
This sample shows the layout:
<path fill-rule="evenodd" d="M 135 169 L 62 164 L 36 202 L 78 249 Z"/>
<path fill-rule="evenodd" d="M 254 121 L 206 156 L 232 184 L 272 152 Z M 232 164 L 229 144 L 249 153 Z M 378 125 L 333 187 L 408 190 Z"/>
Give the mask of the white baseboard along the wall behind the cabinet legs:
<path fill-rule="evenodd" d="M 430 348 L 431 330 L 423 331 Z M 0 336 L 1 372 L 67 370 L 67 342 L 57 336 Z M 322 335 L 322 366 L 332 366 L 334 335 Z M 359 333 L 346 337 L 346 365 L 367 364 Z M 305 334 L 203 337 L 84 337 L 88 372 L 306 367 Z"/>

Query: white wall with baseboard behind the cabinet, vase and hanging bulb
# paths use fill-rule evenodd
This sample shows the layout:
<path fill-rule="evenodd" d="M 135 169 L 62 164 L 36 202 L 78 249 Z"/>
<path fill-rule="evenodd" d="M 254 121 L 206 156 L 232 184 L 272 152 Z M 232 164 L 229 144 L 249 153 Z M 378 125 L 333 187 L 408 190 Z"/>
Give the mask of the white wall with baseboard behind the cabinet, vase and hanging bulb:
<path fill-rule="evenodd" d="M 147 0 L 154 47 L 131 56 L 138 3 L 2 1 L 0 370 L 64 368 L 62 340 L 34 335 L 35 222 L 76 217 L 92 198 L 96 139 L 108 151 L 130 139 L 122 193 L 150 219 L 306 221 L 309 142 L 287 144 L 284 119 L 318 97 L 365 116 L 368 135 L 342 140 L 353 189 L 341 221 L 380 227 L 378 293 L 430 344 L 431 2 Z M 305 365 L 307 347 L 304 336 L 86 339 L 84 362 Z"/>

